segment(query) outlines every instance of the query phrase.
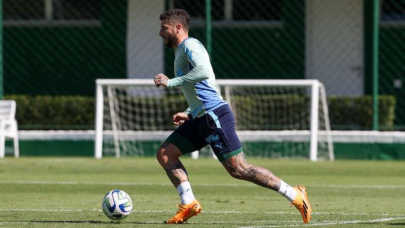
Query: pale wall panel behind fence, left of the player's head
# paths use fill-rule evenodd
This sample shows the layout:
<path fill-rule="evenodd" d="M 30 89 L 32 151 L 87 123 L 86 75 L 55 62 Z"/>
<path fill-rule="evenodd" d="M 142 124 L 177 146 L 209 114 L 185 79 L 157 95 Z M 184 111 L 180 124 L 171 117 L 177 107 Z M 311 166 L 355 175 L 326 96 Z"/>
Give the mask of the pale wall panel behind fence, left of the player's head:
<path fill-rule="evenodd" d="M 159 36 L 163 0 L 129 0 L 127 25 L 127 78 L 153 79 L 164 71 L 164 43 Z"/>

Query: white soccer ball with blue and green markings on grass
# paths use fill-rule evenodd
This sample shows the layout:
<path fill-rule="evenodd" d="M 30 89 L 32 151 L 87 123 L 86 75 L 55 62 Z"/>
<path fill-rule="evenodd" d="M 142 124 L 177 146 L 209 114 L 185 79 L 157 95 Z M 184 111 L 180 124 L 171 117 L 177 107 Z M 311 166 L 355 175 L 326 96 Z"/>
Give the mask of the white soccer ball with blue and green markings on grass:
<path fill-rule="evenodd" d="M 102 203 L 104 214 L 112 220 L 121 220 L 131 214 L 131 197 L 124 191 L 115 189 L 107 193 Z"/>

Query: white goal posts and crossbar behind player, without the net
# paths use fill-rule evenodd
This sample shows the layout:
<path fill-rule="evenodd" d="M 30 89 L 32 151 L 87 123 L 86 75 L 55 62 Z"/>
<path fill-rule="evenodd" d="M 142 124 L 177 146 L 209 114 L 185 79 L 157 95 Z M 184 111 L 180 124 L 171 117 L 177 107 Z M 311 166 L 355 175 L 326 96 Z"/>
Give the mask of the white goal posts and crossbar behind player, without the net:
<path fill-rule="evenodd" d="M 311 90 L 311 107 L 310 107 L 310 129 L 307 134 L 310 135 L 310 154 L 309 159 L 311 161 L 317 161 L 317 143 L 318 143 L 318 120 L 319 120 L 319 99 L 322 101 L 322 109 L 325 115 L 325 127 L 326 130 L 322 133 L 322 140 L 327 141 L 329 148 L 329 158 L 331 161 L 334 160 L 333 144 L 332 144 L 332 133 L 329 121 L 329 112 L 327 105 L 327 97 L 325 87 L 318 80 L 230 80 L 230 79 L 220 79 L 216 80 L 219 87 L 223 87 L 225 94 L 223 94 L 225 100 L 228 101 L 230 105 L 230 91 L 229 86 L 286 86 L 286 87 L 306 87 Z M 129 86 L 154 86 L 153 80 L 151 79 L 97 79 L 96 80 L 96 120 L 95 120 L 95 153 L 94 156 L 97 159 L 102 158 L 102 146 L 103 146 L 103 111 L 104 111 L 104 94 L 102 86 L 118 86 L 118 85 L 129 85 Z M 320 94 L 320 97 L 319 97 Z M 142 131 L 133 132 L 135 135 L 140 134 Z M 170 131 L 171 132 L 171 131 Z M 264 135 L 271 134 L 272 131 L 262 131 Z M 116 130 L 110 130 L 109 134 L 117 134 Z M 131 133 L 130 133 L 131 134 Z M 159 135 L 169 135 L 169 132 L 160 132 Z M 243 135 L 251 135 L 250 131 L 238 132 L 241 141 L 243 140 Z M 306 133 L 304 133 L 306 135 Z M 136 136 L 135 136 L 136 137 Z M 142 138 L 142 136 L 140 136 Z M 115 139 L 114 139 L 115 140 Z M 282 139 L 281 139 L 282 140 Z M 119 150 L 116 149 L 116 157 L 119 157 Z"/>

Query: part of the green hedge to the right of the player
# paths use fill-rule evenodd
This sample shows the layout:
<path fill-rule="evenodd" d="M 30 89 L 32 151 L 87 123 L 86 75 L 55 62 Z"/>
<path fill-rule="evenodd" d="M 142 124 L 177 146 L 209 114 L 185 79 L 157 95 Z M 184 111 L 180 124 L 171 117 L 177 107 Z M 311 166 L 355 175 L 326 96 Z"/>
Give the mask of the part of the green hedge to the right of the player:
<path fill-rule="evenodd" d="M 379 96 L 379 125 L 392 130 L 395 119 L 395 97 Z M 239 130 L 283 130 L 286 125 L 295 130 L 309 129 L 310 98 L 300 95 L 236 96 Z M 329 97 L 329 117 L 333 130 L 371 130 L 373 97 Z M 252 111 L 255 110 L 255 111 Z M 249 119 L 249 121 L 245 121 Z M 298 124 L 297 124 L 298 123 Z"/>

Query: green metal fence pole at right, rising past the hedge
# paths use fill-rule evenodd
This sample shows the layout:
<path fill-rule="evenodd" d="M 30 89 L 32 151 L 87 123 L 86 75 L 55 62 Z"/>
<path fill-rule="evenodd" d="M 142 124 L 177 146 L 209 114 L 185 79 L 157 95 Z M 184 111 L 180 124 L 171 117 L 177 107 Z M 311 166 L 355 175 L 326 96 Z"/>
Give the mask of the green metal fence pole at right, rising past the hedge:
<path fill-rule="evenodd" d="M 378 131 L 378 37 L 380 1 L 373 1 L 373 130 Z"/>

